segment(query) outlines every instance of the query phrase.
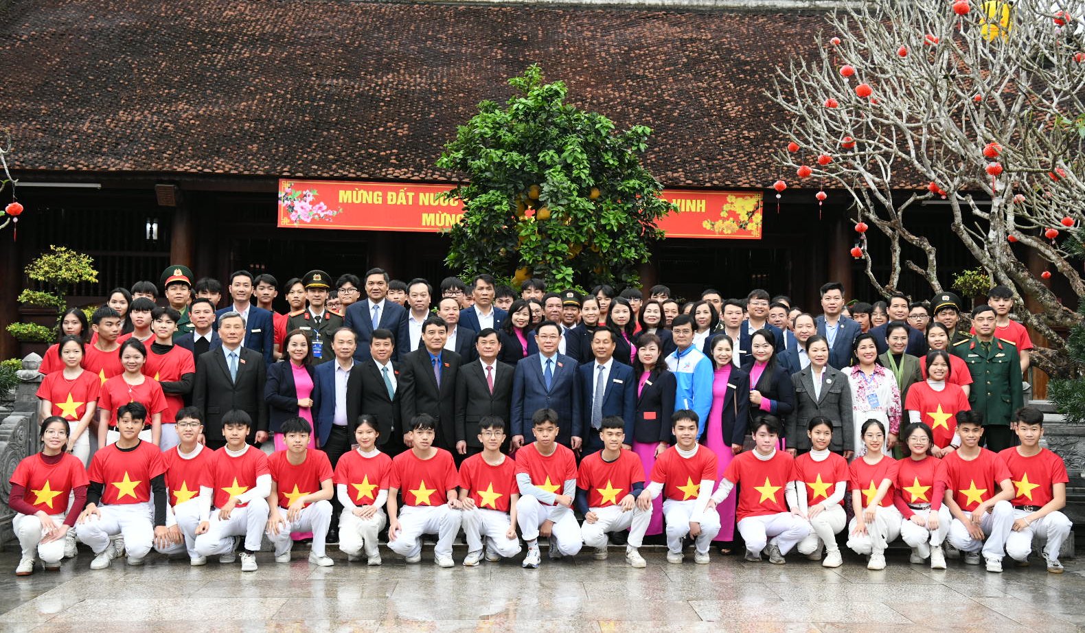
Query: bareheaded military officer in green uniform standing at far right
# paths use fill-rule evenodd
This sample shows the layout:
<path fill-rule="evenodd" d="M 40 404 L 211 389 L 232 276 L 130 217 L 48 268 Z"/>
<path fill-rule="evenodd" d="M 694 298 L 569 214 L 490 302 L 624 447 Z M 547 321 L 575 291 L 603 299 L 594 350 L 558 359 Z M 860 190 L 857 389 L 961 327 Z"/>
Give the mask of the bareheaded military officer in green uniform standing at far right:
<path fill-rule="evenodd" d="M 952 351 L 968 363 L 972 388 L 968 401 L 983 414 L 983 441 L 996 453 L 1013 445 L 1010 421 L 1024 404 L 1021 391 L 1021 359 L 1017 346 L 995 338 L 995 309 L 972 310 L 975 336 L 953 346 Z"/>

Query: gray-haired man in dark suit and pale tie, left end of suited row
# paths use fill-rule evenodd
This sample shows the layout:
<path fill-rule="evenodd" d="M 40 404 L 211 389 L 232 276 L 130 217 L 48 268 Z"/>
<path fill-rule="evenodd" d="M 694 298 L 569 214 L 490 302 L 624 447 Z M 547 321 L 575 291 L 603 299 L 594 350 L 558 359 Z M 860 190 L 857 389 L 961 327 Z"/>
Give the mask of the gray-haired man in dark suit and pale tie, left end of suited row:
<path fill-rule="evenodd" d="M 196 359 L 196 380 L 192 388 L 192 405 L 204 413 L 207 448 L 226 445 L 222 415 L 234 409 L 253 418 L 248 443 L 259 444 L 268 439 L 268 403 L 264 397 L 267 363 L 259 352 L 241 346 L 245 337 L 241 314 L 219 315 L 218 335 L 222 345 Z"/>

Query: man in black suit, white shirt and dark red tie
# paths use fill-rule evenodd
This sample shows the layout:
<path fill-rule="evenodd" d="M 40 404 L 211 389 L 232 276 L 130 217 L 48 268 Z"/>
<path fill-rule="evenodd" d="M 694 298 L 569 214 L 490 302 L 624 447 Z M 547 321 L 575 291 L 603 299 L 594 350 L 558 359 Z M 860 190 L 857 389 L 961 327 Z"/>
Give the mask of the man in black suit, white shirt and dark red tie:
<path fill-rule="evenodd" d="M 456 452 L 473 455 L 482 452 L 478 421 L 487 415 L 509 419 L 512 411 L 512 365 L 499 362 L 501 343 L 497 332 L 487 327 L 475 338 L 477 361 L 464 362 L 456 379 Z"/>

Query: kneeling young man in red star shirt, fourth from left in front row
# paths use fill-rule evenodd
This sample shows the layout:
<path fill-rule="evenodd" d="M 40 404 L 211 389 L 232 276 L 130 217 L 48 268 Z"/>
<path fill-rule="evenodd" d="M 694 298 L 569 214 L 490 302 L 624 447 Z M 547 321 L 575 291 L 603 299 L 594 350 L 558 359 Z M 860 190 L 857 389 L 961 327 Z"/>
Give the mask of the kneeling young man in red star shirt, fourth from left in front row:
<path fill-rule="evenodd" d="M 218 561 L 225 565 L 237 559 L 237 538 L 244 537 L 242 571 L 256 571 L 256 553 L 260 551 L 268 522 L 267 498 L 271 494 L 267 455 L 245 443 L 252 423 L 247 413 L 237 409 L 222 415 L 226 445 L 215 451 L 204 483 L 208 487 L 206 500 L 213 501 L 218 509 L 212 512 L 208 506 L 205 514 L 208 518 L 196 527 L 196 554 L 205 557 L 217 554 Z M 204 494 L 203 490 L 200 492 Z"/>

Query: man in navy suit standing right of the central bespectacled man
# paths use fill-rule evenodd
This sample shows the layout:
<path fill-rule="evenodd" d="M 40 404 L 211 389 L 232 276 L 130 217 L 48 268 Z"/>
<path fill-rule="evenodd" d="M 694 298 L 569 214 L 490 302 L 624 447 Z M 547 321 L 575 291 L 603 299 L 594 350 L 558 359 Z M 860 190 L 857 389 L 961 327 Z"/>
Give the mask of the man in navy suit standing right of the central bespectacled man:
<path fill-rule="evenodd" d="M 584 454 L 603 449 L 599 430 L 603 418 L 616 415 L 625 422 L 625 430 L 633 443 L 633 425 L 637 416 L 637 380 L 633 367 L 614 362 L 615 334 L 610 327 L 600 327 L 591 335 L 591 353 L 595 360 L 576 370 L 580 384 L 580 411 L 588 423 L 583 429 Z M 579 429 L 573 429 L 576 435 Z"/>

